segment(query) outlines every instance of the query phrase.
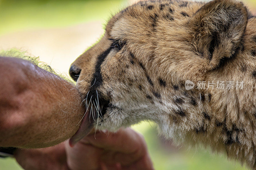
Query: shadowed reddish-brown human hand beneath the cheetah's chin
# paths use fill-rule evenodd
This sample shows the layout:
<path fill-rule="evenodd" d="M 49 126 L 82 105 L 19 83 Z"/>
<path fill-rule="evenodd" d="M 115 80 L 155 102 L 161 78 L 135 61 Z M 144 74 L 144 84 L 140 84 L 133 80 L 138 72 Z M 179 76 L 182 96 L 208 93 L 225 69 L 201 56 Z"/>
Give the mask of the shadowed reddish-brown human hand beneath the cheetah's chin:
<path fill-rule="evenodd" d="M 49 148 L 19 149 L 14 156 L 28 170 L 153 169 L 144 138 L 130 128 L 93 132 L 73 147 L 66 141 Z"/>

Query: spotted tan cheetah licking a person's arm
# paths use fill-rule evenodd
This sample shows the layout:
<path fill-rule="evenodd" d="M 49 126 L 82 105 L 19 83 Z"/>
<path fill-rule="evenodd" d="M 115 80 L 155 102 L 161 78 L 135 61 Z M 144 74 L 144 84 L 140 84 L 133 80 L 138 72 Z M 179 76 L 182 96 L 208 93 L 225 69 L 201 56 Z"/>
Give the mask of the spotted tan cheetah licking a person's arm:
<path fill-rule="evenodd" d="M 167 138 L 256 169 L 256 17 L 243 3 L 133 4 L 69 73 L 87 108 L 71 144 L 93 127 L 149 120 Z"/>

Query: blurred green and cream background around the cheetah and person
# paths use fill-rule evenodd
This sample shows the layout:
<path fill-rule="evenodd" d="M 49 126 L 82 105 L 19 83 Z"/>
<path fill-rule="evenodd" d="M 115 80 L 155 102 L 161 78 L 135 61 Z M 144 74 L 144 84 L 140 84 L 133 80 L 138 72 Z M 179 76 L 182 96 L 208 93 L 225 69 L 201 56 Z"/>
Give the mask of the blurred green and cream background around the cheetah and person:
<path fill-rule="evenodd" d="M 0 0 L 0 50 L 18 48 L 39 56 L 68 76 L 70 64 L 104 33 L 112 14 L 136 0 Z M 252 13 L 256 0 L 245 0 Z M 174 146 L 158 136 L 156 124 L 133 126 L 142 133 L 157 170 L 247 169 L 210 149 Z M 0 159 L 0 170 L 22 169 L 14 159 Z"/>

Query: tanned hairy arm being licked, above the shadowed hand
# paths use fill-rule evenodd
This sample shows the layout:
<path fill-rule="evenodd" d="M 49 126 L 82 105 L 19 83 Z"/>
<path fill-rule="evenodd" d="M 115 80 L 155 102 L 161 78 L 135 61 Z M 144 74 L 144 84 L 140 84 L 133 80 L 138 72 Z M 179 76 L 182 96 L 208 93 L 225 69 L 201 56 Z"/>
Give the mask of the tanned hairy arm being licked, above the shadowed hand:
<path fill-rule="evenodd" d="M 79 128 L 84 114 L 75 86 L 25 60 L 0 57 L 0 146 L 42 148 Z"/>

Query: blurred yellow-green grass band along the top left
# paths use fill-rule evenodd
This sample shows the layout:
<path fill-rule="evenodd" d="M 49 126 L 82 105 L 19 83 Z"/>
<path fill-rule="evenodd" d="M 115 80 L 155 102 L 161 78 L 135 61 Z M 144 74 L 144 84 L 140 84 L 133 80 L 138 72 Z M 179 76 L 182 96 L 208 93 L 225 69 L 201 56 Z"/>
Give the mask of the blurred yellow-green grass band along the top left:
<path fill-rule="evenodd" d="M 0 0 L 0 35 L 23 29 L 105 21 L 124 4 L 122 0 Z"/>

